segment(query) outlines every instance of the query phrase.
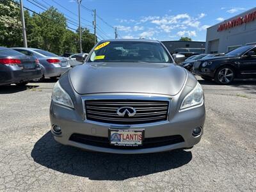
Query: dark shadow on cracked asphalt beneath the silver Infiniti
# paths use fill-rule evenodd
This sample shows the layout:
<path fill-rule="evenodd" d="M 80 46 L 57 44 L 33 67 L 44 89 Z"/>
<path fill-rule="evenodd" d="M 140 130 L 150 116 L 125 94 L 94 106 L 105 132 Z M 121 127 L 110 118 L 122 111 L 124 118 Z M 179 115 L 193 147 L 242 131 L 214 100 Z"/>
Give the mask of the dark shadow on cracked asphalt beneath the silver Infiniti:
<path fill-rule="evenodd" d="M 189 163 L 192 154 L 185 150 L 136 155 L 86 152 L 57 143 L 49 131 L 35 143 L 31 157 L 61 173 L 91 180 L 124 180 L 178 168 Z"/>

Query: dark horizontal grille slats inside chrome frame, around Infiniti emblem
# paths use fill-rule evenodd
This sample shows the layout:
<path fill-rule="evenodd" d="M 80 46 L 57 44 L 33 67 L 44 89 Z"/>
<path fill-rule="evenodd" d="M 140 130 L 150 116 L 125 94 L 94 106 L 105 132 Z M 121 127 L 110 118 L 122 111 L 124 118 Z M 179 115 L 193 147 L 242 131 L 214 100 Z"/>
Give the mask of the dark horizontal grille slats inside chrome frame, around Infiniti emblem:
<path fill-rule="evenodd" d="M 86 119 L 108 124 L 148 124 L 167 120 L 168 100 L 85 100 Z M 118 116 L 122 107 L 136 110 L 134 116 Z"/>

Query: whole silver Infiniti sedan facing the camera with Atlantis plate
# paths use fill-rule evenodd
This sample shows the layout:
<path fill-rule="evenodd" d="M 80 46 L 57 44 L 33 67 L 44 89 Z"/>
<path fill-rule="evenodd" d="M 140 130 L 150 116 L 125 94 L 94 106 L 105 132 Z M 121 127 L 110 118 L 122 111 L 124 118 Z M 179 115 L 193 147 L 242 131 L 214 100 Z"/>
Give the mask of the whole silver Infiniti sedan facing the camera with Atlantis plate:
<path fill-rule="evenodd" d="M 99 42 L 52 92 L 51 132 L 63 145 L 141 154 L 191 148 L 201 140 L 202 86 L 161 42 Z"/>

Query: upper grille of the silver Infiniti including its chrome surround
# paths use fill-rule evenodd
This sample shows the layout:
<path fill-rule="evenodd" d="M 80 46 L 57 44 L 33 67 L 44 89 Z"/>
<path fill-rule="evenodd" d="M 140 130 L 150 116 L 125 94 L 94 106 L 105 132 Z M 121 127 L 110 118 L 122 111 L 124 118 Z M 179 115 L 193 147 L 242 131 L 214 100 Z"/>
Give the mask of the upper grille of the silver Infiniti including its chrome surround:
<path fill-rule="evenodd" d="M 85 122 L 118 127 L 167 123 L 171 102 L 170 97 L 150 95 L 92 95 L 82 100 Z M 122 106 L 136 108 L 136 115 L 118 116 L 116 110 Z"/>

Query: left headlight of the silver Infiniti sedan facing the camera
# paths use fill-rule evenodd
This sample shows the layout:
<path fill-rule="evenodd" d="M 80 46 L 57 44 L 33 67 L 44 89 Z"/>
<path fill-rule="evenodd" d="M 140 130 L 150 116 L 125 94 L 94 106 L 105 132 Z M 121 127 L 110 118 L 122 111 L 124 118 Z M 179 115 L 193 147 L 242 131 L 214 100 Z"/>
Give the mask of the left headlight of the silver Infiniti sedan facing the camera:
<path fill-rule="evenodd" d="M 52 100 L 58 104 L 74 108 L 73 102 L 65 90 L 60 86 L 59 81 L 55 83 L 52 90 Z"/>

